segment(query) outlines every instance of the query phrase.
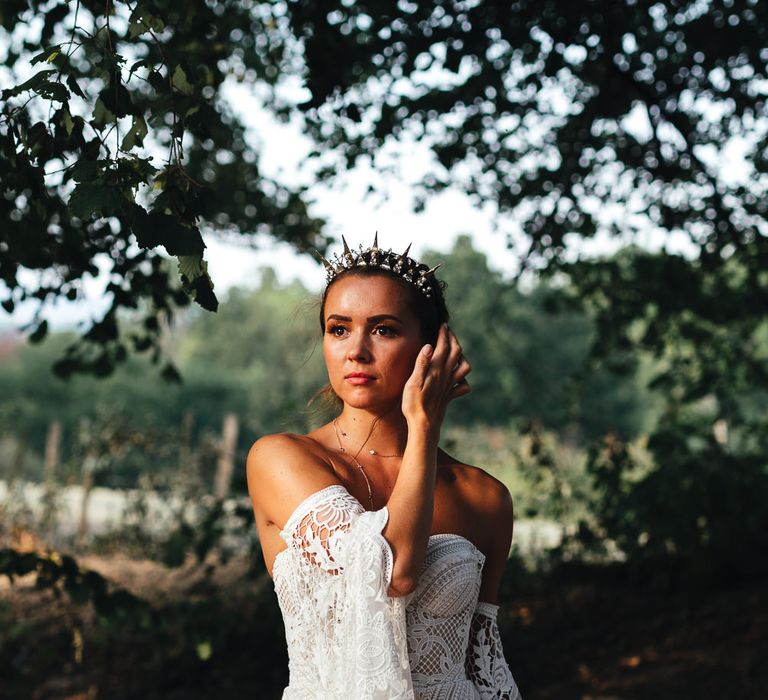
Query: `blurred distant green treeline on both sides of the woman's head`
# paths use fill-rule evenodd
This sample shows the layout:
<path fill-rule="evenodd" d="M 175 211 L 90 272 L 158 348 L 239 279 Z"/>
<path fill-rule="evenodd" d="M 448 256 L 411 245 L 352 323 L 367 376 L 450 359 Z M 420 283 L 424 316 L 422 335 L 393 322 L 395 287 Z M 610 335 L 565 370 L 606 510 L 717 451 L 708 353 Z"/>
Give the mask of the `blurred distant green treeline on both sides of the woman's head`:
<path fill-rule="evenodd" d="M 426 257 L 442 263 L 451 325 L 473 365 L 473 392 L 454 404 L 450 425 L 533 422 L 574 445 L 606 432 L 632 438 L 649 428 L 656 404 L 644 389 L 642 363 L 622 374 L 591 366 L 590 318 L 549 313 L 547 300 L 556 294 L 551 286 L 527 293 L 512 288 L 467 237 L 448 254 Z M 100 433 L 102 451 L 115 452 L 103 478 L 133 486 L 142 473 L 174 469 L 185 449 L 196 450 L 203 471 L 212 469 L 228 413 L 240 421 L 240 460 L 264 433 L 306 431 L 323 419 L 321 407 L 308 407 L 326 381 L 318 311 L 316 294 L 299 282 L 280 285 L 264 269 L 257 288 L 230 290 L 218 313 L 195 308 L 169 325 L 166 350 L 181 383 L 162 380 L 142 358 L 129 359 L 107 379 L 60 380 L 50 368 L 72 340 L 67 333 L 40 346 L 11 351 L 6 345 L 0 360 L 3 461 L 18 459 L 22 443 L 28 447 L 25 475 L 40 478 L 46 433 L 58 420 L 65 464 L 73 462 L 76 472 Z M 236 486 L 240 478 L 236 473 Z"/>

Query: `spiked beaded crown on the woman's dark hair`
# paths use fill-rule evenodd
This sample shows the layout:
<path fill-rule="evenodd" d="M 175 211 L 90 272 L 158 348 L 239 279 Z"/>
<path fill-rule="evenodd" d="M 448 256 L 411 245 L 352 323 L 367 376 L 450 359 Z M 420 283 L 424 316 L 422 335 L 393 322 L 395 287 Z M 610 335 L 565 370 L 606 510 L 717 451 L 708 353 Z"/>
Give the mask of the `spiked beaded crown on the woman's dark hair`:
<path fill-rule="evenodd" d="M 409 284 L 412 284 L 428 299 L 432 297 L 432 282 L 434 280 L 435 270 L 440 265 L 435 265 L 432 269 L 427 268 L 423 263 L 417 262 L 408 257 L 410 244 L 403 253 L 395 253 L 390 250 L 379 248 L 378 233 L 373 237 L 373 245 L 370 248 L 360 246 L 359 251 L 350 250 L 344 236 L 341 241 L 344 244 L 344 252 L 341 255 L 335 255 L 333 260 L 326 260 L 320 253 L 320 260 L 325 267 L 325 281 L 330 284 L 338 275 L 347 270 L 355 268 L 379 268 L 389 270 L 398 277 L 401 277 Z"/>

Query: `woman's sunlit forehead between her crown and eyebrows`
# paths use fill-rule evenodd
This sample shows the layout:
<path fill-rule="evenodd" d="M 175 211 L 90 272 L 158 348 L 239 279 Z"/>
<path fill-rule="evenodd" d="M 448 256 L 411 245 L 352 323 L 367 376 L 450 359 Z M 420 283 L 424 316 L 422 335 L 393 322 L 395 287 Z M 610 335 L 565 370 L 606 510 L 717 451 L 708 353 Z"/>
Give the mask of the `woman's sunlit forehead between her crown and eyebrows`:
<path fill-rule="evenodd" d="M 386 275 L 347 275 L 334 282 L 325 298 L 324 314 L 415 319 L 407 290 Z"/>

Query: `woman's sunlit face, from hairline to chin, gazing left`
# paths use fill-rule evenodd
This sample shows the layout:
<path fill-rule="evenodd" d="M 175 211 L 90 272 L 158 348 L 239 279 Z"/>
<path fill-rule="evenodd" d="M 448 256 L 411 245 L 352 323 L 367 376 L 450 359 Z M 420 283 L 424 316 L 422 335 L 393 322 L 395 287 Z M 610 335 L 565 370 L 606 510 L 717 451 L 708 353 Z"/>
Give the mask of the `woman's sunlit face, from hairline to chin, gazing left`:
<path fill-rule="evenodd" d="M 347 275 L 328 290 L 323 355 L 336 395 L 387 410 L 402 397 L 424 346 L 408 292 L 386 275 Z"/>

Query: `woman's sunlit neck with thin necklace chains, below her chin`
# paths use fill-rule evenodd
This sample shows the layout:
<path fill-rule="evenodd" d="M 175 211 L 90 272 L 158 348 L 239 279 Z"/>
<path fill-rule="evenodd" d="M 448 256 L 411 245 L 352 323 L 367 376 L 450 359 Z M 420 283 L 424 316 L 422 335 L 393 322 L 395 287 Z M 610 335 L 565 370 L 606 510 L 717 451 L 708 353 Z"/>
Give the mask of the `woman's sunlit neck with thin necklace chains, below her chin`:
<path fill-rule="evenodd" d="M 345 404 L 336 420 L 339 428 L 346 433 L 343 439 L 347 449 L 356 451 L 362 447 L 361 456 L 368 455 L 372 449 L 380 455 L 402 455 L 405 450 L 408 425 L 399 406 L 379 412 Z"/>

